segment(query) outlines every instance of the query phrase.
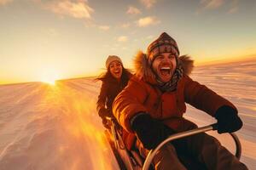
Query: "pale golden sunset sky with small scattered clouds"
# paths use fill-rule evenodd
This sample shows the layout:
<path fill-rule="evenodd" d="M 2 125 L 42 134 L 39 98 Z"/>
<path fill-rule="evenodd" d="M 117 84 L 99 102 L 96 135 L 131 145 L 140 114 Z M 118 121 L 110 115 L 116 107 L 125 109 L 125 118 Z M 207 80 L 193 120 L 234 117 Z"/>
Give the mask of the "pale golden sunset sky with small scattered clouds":
<path fill-rule="evenodd" d="M 0 84 L 133 68 L 166 31 L 195 65 L 256 57 L 254 0 L 0 0 Z"/>

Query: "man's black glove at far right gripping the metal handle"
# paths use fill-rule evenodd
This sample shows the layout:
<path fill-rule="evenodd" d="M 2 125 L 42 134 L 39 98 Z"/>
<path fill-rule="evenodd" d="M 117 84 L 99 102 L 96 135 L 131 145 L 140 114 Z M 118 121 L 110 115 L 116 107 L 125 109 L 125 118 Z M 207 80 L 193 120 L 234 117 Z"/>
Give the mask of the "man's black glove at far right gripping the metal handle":
<path fill-rule="evenodd" d="M 218 108 L 215 118 L 218 123 L 218 133 L 233 133 L 242 127 L 242 122 L 240 117 L 237 116 L 236 109 L 228 105 Z"/>

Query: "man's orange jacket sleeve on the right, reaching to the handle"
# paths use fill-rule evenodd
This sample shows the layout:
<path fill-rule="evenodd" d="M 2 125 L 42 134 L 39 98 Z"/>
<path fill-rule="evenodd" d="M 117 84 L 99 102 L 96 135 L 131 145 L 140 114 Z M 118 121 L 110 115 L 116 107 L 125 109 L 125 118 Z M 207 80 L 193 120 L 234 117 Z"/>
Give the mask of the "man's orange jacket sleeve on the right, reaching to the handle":
<path fill-rule="evenodd" d="M 229 100 L 224 99 L 211 89 L 201 85 L 199 82 L 193 81 L 187 75 L 183 77 L 185 79 L 185 102 L 189 103 L 189 105 L 193 105 L 195 108 L 205 111 L 211 116 L 214 116 L 218 108 L 223 105 L 229 105 L 236 109 L 236 106 L 230 103 Z"/>

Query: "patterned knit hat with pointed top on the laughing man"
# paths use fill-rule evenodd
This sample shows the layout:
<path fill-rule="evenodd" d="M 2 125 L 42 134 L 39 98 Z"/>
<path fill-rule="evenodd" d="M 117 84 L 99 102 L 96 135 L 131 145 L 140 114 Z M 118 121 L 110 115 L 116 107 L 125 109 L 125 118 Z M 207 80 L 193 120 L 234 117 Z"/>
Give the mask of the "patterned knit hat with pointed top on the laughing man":
<path fill-rule="evenodd" d="M 154 42 L 148 45 L 147 58 L 149 65 L 152 65 L 156 56 L 162 53 L 175 54 L 176 59 L 179 56 L 177 42 L 170 37 L 166 32 L 163 32 Z"/>

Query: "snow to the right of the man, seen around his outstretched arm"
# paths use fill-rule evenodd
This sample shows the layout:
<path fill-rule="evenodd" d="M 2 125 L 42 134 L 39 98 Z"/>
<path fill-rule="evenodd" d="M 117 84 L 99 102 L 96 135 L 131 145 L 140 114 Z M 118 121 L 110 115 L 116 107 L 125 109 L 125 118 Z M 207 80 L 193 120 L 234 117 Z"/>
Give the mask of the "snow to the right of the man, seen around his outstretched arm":
<path fill-rule="evenodd" d="M 256 169 L 256 59 L 201 66 L 195 69 L 191 77 L 236 105 L 243 121 L 243 127 L 236 132 L 241 141 L 241 161 L 249 169 Z M 199 126 L 216 122 L 211 116 L 190 106 L 185 116 Z M 225 147 L 235 153 L 234 142 L 228 134 L 211 134 L 214 134 Z"/>

